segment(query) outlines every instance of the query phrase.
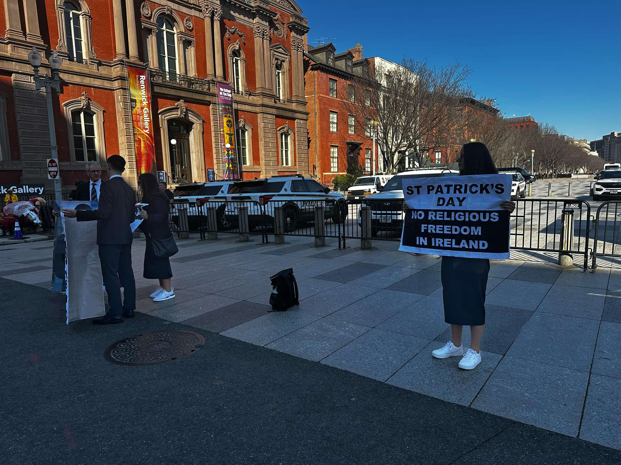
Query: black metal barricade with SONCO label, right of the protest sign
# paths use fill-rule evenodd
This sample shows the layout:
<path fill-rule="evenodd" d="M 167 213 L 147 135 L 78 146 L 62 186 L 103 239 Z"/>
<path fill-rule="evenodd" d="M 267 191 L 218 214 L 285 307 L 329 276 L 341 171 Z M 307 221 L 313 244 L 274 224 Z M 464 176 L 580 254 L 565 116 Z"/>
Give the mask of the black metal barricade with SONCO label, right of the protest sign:
<path fill-rule="evenodd" d="M 514 250 L 558 252 L 561 257 L 583 255 L 589 261 L 591 206 L 584 200 L 519 199 L 510 216 L 509 245 Z"/>

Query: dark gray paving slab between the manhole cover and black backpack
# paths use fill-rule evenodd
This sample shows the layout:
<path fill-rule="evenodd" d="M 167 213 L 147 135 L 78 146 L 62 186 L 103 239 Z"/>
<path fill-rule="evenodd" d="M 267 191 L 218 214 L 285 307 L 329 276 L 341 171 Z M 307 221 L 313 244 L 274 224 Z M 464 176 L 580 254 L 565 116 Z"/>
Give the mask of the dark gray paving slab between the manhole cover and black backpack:
<path fill-rule="evenodd" d="M 190 318 L 183 323 L 211 332 L 222 332 L 257 317 L 266 315 L 270 311 L 271 307 L 269 305 L 241 301 Z"/>

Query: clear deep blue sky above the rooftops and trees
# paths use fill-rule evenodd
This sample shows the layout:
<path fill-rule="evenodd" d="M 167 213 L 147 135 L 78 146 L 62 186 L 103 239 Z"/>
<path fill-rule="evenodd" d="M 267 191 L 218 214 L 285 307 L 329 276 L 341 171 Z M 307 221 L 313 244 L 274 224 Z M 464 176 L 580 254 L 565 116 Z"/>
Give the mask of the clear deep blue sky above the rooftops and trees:
<path fill-rule="evenodd" d="M 433 66 L 456 61 L 506 117 L 530 113 L 577 139 L 621 131 L 621 0 L 299 0 L 309 45 Z"/>

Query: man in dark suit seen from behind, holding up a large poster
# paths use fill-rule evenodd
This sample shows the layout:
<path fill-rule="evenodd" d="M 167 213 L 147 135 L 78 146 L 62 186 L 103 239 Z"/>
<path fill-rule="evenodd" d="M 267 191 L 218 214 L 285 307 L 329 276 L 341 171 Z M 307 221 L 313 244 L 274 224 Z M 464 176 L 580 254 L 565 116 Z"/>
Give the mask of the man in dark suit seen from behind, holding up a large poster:
<path fill-rule="evenodd" d="M 72 210 L 63 208 L 67 218 L 78 221 L 97 220 L 97 245 L 104 285 L 108 293 L 110 311 L 106 316 L 93 320 L 94 324 L 122 323 L 123 317 L 133 318 L 136 308 L 136 283 L 132 270 L 132 239 L 130 223 L 135 220 L 136 195 L 121 176 L 125 159 L 112 155 L 107 159 L 110 180 L 102 182 L 97 210 Z M 125 299 L 121 303 L 120 288 Z"/>

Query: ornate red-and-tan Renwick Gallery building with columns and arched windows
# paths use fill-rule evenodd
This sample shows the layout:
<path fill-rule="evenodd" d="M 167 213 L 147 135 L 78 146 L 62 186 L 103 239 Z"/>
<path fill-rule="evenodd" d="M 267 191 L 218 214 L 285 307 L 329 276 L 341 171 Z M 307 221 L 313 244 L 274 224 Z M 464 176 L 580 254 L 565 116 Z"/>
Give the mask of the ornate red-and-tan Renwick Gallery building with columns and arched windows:
<path fill-rule="evenodd" d="M 63 59 L 52 91 L 65 190 L 86 161 L 118 153 L 137 184 L 127 66 L 148 69 L 156 166 L 170 179 L 222 174 L 216 84 L 233 88 L 243 177 L 309 173 L 306 18 L 293 0 L 3 0 L 0 184 L 47 182 L 50 128 L 28 53 Z M 175 145 L 171 140 L 175 139 Z M 48 193 L 51 192 L 48 185 Z"/>

